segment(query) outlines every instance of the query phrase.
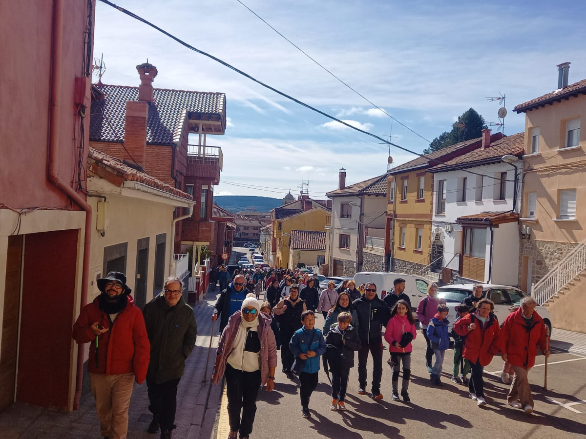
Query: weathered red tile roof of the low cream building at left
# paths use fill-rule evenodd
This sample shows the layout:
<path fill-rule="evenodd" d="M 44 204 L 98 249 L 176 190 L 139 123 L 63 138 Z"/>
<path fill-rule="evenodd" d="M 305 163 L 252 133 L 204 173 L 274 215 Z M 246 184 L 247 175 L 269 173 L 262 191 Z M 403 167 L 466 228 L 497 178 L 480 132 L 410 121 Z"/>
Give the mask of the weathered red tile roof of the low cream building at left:
<path fill-rule="evenodd" d="M 193 200 L 193 197 L 188 193 L 180 191 L 178 188 L 175 188 L 170 184 L 163 183 L 161 180 L 157 180 L 155 177 L 151 177 L 145 172 L 127 166 L 122 163 L 120 159 L 104 154 L 97 149 L 90 148 L 87 163 L 91 172 L 110 181 L 110 183 L 113 183 L 118 187 L 121 187 L 124 181 L 137 181 L 138 183 L 168 192 L 176 197 Z"/>

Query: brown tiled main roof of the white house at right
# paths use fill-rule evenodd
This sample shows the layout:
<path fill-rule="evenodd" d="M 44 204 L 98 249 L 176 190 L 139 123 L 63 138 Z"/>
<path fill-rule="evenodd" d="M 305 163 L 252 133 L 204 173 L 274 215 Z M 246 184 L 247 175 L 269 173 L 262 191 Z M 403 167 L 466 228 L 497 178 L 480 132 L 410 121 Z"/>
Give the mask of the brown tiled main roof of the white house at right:
<path fill-rule="evenodd" d="M 512 136 L 505 136 L 496 142 L 490 142 L 488 148 L 473 149 L 470 152 L 464 153 L 461 156 L 455 157 L 451 160 L 442 160 L 445 164 L 438 164 L 430 169 L 430 172 L 440 172 L 448 170 L 451 166 L 467 167 L 474 166 L 479 162 L 501 161 L 501 157 L 505 154 L 520 156 L 525 150 L 525 133 L 517 133 Z"/>

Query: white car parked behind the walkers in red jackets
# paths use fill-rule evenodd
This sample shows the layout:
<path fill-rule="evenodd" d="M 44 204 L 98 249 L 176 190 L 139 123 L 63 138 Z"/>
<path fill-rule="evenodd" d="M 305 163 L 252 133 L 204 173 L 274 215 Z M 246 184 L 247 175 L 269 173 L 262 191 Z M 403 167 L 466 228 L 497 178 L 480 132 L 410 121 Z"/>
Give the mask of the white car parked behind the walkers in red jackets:
<path fill-rule="evenodd" d="M 466 296 L 472 293 L 473 283 L 445 285 L 438 289 L 438 297 L 444 299 L 449 308 L 448 320 L 449 330 L 452 330 L 454 320 L 456 320 L 456 306 L 458 306 Z M 503 324 L 507 315 L 509 315 L 509 307 L 519 305 L 521 299 L 527 296 L 527 293 L 518 288 L 507 285 L 482 284 L 482 291 L 486 299 L 490 299 L 495 303 L 495 316 L 499 324 Z M 551 315 L 546 307 L 537 306 L 535 308 L 537 314 L 543 318 L 544 323 L 549 327 L 551 334 Z"/>

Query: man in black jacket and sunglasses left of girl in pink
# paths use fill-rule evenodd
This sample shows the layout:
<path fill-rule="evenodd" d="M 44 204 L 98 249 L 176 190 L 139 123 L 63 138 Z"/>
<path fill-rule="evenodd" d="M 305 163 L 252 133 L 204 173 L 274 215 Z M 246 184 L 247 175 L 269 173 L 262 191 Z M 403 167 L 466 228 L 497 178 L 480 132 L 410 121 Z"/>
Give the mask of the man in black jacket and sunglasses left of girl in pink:
<path fill-rule="evenodd" d="M 376 294 L 376 285 L 366 284 L 364 296 L 353 301 L 358 315 L 358 335 L 362 347 L 358 351 L 358 383 L 359 395 L 366 395 L 366 362 L 368 353 L 372 355 L 372 397 L 383 399 L 380 393 L 380 380 L 383 378 L 383 325 L 389 322 L 390 311 L 384 301 Z"/>

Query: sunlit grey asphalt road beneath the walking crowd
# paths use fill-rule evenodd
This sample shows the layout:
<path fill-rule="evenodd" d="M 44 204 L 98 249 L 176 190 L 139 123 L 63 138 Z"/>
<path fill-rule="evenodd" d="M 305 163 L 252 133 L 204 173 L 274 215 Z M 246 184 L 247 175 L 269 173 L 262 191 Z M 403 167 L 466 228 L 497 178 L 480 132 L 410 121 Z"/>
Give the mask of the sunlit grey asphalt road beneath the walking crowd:
<path fill-rule="evenodd" d="M 321 328 L 322 316 L 316 316 L 316 320 L 316 327 Z M 309 406 L 312 417 L 304 419 L 301 417 L 298 379 L 287 379 L 281 373 L 279 365 L 275 390 L 270 393 L 261 392 L 258 398 L 257 416 L 251 437 L 586 437 L 586 358 L 574 354 L 552 353 L 548 366 L 550 390 L 546 392 L 543 390 L 544 357 L 539 356 L 536 361 L 538 366 L 529 374 L 535 411 L 532 415 L 526 415 L 506 403 L 508 386 L 500 381 L 500 357 L 495 357 L 485 368 L 487 405 L 480 408 L 475 401 L 469 399 L 468 387 L 449 382 L 453 356 L 451 349 L 446 353 L 444 361 L 444 386 L 437 387 L 431 385 L 425 368 L 423 336 L 419 334 L 413 343 L 413 375 L 409 387 L 411 403 L 391 400 L 391 371 L 384 363 L 381 385 L 383 400 L 374 402 L 370 395 L 357 395 L 357 369 L 354 368 L 350 371 L 346 411 L 331 411 L 331 387 L 325 373 L 320 371 L 319 385 Z M 383 361 L 386 362 L 387 358 L 389 351 L 385 350 Z M 489 372 L 495 375 L 490 375 Z M 370 377 L 372 374 L 369 368 L 369 379 Z M 369 390 L 367 387 L 367 391 Z"/>

